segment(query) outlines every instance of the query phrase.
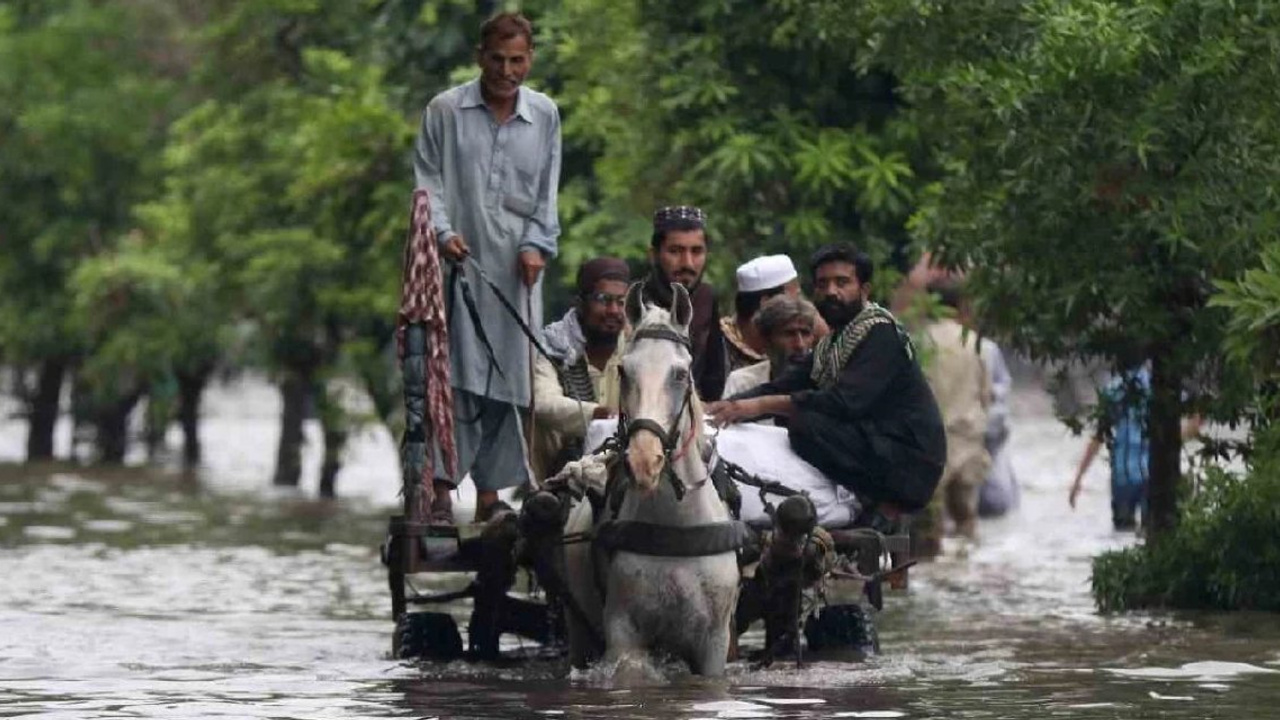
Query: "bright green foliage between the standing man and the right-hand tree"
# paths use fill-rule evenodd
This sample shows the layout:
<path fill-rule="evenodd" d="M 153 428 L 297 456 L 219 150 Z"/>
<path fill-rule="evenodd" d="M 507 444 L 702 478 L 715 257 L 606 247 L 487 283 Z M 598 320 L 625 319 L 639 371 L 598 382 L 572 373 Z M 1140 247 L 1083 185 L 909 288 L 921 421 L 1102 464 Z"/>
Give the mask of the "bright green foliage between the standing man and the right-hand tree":
<path fill-rule="evenodd" d="M 916 143 L 891 119 L 891 81 L 855 73 L 852 45 L 803 19 L 783 1 L 548 12 L 566 145 L 589 155 L 562 192 L 566 270 L 643 258 L 649 217 L 669 204 L 707 209 L 713 278 L 763 252 L 803 261 L 854 240 L 886 260 L 904 242 Z"/>

